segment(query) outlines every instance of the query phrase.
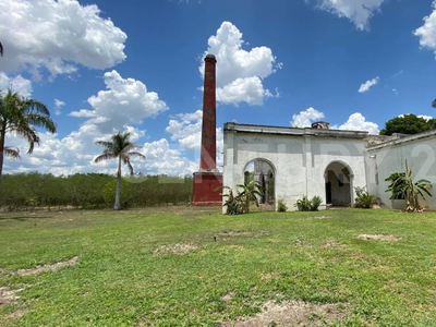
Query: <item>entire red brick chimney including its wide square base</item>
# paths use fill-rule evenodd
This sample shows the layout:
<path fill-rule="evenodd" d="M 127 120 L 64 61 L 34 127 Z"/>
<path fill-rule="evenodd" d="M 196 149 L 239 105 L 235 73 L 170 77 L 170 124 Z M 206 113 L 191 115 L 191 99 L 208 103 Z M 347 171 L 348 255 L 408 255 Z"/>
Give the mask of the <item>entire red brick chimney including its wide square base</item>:
<path fill-rule="evenodd" d="M 217 169 L 217 101 L 214 55 L 205 58 L 199 171 L 194 173 L 194 206 L 221 206 L 222 173 Z"/>

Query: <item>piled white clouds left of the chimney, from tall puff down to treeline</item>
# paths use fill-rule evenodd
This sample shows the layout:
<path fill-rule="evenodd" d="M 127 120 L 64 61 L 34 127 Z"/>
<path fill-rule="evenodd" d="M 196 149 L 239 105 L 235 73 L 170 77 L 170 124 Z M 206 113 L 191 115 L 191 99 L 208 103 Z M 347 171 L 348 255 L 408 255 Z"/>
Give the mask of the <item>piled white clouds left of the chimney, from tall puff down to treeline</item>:
<path fill-rule="evenodd" d="M 105 74 L 106 90 L 89 97 L 88 102 L 93 110 L 81 109 L 70 113 L 72 117 L 85 118 L 78 130 L 64 137 L 49 133 L 40 134 L 40 144 L 35 147 L 32 156 L 25 154 L 26 142 L 15 135 L 7 136 L 7 145 L 21 149 L 22 160 L 12 161 L 7 158 L 5 172 L 51 172 L 53 174 L 72 174 L 76 172 L 113 173 L 117 170 L 117 160 L 95 164 L 94 159 L 101 154 L 102 148 L 95 144 L 99 140 L 109 140 L 113 132 L 131 133 L 131 141 L 141 144 L 145 131 L 134 123 L 140 123 L 144 118 L 155 117 L 168 109 L 154 92 L 148 92 L 146 86 L 133 78 L 123 78 L 116 72 Z M 55 107 L 62 108 L 65 104 L 55 100 Z M 143 173 L 167 173 L 172 175 L 190 174 L 198 169 L 198 164 L 186 158 L 181 146 L 194 148 L 194 143 L 189 138 L 189 131 L 195 137 L 201 130 L 202 112 L 179 116 L 182 122 L 180 131 L 171 130 L 174 144 L 166 138 L 142 143 L 141 150 L 146 156 L 146 161 L 135 160 L 135 171 Z M 196 125 L 190 128 L 190 124 Z M 198 130 L 199 128 L 199 130 Z M 221 137 L 222 138 L 222 137 Z M 124 169 L 124 172 L 128 171 Z"/>

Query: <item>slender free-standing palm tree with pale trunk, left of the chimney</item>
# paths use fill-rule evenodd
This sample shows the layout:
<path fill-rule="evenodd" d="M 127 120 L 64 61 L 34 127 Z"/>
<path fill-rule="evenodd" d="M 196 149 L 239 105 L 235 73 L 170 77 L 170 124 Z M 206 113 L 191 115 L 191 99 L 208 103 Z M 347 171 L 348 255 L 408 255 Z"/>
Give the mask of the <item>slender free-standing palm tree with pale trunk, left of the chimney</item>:
<path fill-rule="evenodd" d="M 120 206 L 120 192 L 121 192 L 121 162 L 128 165 L 130 173 L 133 174 L 133 167 L 130 164 L 131 158 L 145 159 L 145 156 L 134 152 L 141 148 L 141 145 L 133 144 L 129 141 L 130 133 L 118 133 L 110 137 L 110 141 L 97 141 L 96 144 L 101 145 L 105 150 L 100 156 L 95 159 L 95 162 L 105 161 L 108 159 L 118 158 L 118 172 L 117 172 L 117 190 L 116 190 L 116 204 L 113 210 L 121 209 Z"/>

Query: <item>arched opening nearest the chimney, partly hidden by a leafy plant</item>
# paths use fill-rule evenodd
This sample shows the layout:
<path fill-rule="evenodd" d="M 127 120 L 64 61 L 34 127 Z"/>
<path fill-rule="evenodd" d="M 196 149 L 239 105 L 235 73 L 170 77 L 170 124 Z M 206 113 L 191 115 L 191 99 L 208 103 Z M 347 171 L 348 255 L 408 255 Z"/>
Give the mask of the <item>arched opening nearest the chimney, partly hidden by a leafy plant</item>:
<path fill-rule="evenodd" d="M 251 160 L 244 169 L 244 182 L 256 181 L 264 194 L 258 199 L 259 210 L 274 211 L 276 204 L 276 174 L 272 165 L 265 159 Z M 252 209 L 252 208 L 251 208 Z M 253 207 L 256 210 L 256 207 Z"/>

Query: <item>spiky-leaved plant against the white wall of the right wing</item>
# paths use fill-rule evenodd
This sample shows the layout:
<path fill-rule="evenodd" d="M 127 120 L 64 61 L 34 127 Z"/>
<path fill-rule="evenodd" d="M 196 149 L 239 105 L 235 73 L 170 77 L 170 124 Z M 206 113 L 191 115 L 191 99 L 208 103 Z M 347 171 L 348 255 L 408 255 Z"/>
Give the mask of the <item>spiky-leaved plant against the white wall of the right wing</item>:
<path fill-rule="evenodd" d="M 395 172 L 386 179 L 390 185 L 386 192 L 391 192 L 390 199 L 404 198 L 407 211 L 423 211 L 420 205 L 420 196 L 425 199 L 425 196 L 433 196 L 429 190 L 432 183 L 428 180 L 422 179 L 413 182 L 413 169 L 405 160 L 405 172 Z"/>

